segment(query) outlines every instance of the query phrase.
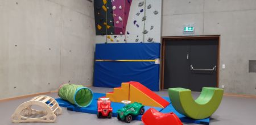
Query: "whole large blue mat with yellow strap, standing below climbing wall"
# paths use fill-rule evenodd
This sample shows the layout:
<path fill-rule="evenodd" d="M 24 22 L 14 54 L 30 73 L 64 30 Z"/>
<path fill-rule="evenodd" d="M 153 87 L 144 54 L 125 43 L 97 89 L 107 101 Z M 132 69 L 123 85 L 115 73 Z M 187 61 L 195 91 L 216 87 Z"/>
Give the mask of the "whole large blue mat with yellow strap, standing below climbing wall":
<path fill-rule="evenodd" d="M 96 44 L 95 59 L 160 59 L 160 43 Z M 155 62 L 96 61 L 93 86 L 119 87 L 122 82 L 138 81 L 152 91 L 159 91 L 159 69 Z"/>

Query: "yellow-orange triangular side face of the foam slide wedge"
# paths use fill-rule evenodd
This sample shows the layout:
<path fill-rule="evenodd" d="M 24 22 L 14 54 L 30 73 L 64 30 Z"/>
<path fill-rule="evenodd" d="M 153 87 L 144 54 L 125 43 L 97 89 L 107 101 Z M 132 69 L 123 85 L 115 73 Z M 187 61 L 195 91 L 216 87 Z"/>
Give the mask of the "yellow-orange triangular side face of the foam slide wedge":
<path fill-rule="evenodd" d="M 142 93 L 141 90 L 137 89 L 133 85 L 130 85 L 130 101 L 140 102 L 145 106 L 154 106 L 154 107 L 162 107 L 158 102 L 154 101 L 154 99 L 148 97 L 146 94 Z"/>

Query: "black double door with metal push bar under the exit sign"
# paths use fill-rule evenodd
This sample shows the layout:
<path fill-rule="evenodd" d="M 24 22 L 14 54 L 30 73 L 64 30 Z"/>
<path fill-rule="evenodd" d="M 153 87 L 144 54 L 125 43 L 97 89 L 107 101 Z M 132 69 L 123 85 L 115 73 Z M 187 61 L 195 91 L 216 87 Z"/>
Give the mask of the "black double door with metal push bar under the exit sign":
<path fill-rule="evenodd" d="M 164 89 L 217 87 L 218 39 L 172 39 L 164 46 Z"/>

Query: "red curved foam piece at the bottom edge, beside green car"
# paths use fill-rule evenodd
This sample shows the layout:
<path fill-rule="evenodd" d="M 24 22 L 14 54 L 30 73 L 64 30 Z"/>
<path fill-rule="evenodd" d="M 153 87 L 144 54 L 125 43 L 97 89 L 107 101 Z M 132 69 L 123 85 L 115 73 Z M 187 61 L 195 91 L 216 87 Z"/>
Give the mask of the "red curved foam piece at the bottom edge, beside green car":
<path fill-rule="evenodd" d="M 180 121 L 179 117 L 176 114 L 160 113 L 158 110 L 155 110 L 154 108 L 150 108 L 149 110 L 147 110 L 146 113 L 142 115 L 141 120 L 145 125 L 183 125 L 183 123 Z"/>

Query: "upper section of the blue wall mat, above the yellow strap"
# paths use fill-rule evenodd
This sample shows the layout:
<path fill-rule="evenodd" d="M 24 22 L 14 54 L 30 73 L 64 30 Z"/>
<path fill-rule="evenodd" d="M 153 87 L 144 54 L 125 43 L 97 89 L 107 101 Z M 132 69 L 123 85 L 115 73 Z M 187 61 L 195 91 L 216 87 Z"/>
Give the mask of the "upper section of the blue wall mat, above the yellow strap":
<path fill-rule="evenodd" d="M 96 60 L 154 60 L 160 58 L 160 43 L 96 44 Z"/>

